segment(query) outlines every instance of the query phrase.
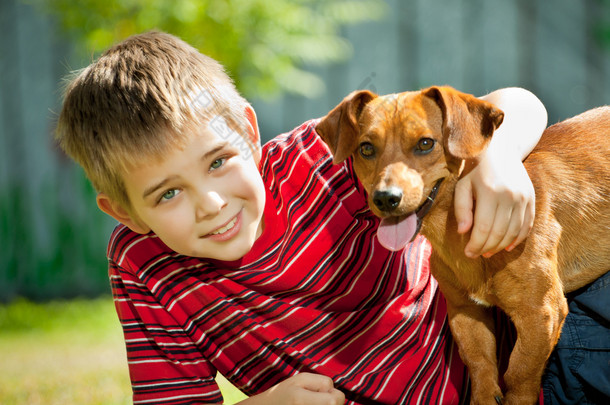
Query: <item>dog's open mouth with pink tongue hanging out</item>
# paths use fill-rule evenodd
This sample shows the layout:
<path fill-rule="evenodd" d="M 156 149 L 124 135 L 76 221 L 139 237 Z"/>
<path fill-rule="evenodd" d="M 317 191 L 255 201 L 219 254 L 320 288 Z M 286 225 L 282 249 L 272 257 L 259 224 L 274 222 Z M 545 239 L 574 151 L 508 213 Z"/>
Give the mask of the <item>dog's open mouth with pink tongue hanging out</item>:
<path fill-rule="evenodd" d="M 377 238 L 383 247 L 391 251 L 403 249 L 421 229 L 423 218 L 430 212 L 443 179 L 437 180 L 426 200 L 412 213 L 383 218 L 377 229 Z"/>

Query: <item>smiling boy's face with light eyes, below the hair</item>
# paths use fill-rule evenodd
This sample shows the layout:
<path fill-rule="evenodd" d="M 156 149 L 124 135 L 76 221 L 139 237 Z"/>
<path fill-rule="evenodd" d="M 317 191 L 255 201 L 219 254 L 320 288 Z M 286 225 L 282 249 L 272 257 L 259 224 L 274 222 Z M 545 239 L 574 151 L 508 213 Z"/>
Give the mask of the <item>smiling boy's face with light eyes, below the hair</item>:
<path fill-rule="evenodd" d="M 183 149 L 129 170 L 132 210 L 121 222 L 136 232 L 152 230 L 183 255 L 241 258 L 262 232 L 265 188 L 250 149 L 236 139 L 204 125 Z"/>

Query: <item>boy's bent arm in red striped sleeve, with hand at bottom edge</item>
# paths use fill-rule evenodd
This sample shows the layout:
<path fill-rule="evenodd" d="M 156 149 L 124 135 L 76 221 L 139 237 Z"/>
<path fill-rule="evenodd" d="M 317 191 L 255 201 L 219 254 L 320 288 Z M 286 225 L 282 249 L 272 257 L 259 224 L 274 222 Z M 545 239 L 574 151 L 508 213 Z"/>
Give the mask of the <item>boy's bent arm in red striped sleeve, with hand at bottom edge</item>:
<path fill-rule="evenodd" d="M 199 350 L 191 345 L 181 327 L 173 324 L 171 315 L 156 305 L 142 281 L 112 260 L 109 275 L 125 335 L 134 403 L 166 404 L 173 399 L 176 403 L 182 400 L 180 403 L 221 404 L 222 395 L 214 378 L 216 370 L 197 355 Z M 150 316 L 153 319 L 147 322 L 144 318 Z M 172 324 L 168 325 L 166 320 Z M 167 332 L 168 327 L 171 333 Z M 181 359 L 181 353 L 189 359 Z M 185 364 L 180 360 L 185 360 Z M 340 405 L 345 403 L 345 395 L 334 388 L 329 377 L 299 373 L 240 402 L 244 405 L 298 403 Z"/>

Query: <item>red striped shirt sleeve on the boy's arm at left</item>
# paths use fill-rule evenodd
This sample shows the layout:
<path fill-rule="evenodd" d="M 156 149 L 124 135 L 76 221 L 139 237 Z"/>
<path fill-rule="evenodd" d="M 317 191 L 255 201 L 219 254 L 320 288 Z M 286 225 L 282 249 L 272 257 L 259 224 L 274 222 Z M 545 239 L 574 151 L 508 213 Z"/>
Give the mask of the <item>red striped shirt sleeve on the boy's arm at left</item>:
<path fill-rule="evenodd" d="M 216 370 L 146 286 L 112 261 L 109 276 L 123 328 L 134 404 L 210 404 L 223 398 Z"/>

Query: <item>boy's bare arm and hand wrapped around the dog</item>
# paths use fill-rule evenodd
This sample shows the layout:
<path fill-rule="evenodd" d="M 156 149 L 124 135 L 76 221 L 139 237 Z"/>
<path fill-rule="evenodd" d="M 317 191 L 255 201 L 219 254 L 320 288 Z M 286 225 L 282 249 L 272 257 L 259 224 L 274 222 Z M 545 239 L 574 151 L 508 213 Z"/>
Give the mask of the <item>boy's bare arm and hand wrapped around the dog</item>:
<path fill-rule="evenodd" d="M 486 152 L 477 162 L 469 162 L 472 170 L 456 186 L 458 232 L 472 228 L 465 249 L 469 257 L 511 250 L 529 233 L 535 195 L 522 160 L 536 146 L 547 124 L 544 105 L 527 90 L 506 88 L 481 98 L 505 115 Z"/>

